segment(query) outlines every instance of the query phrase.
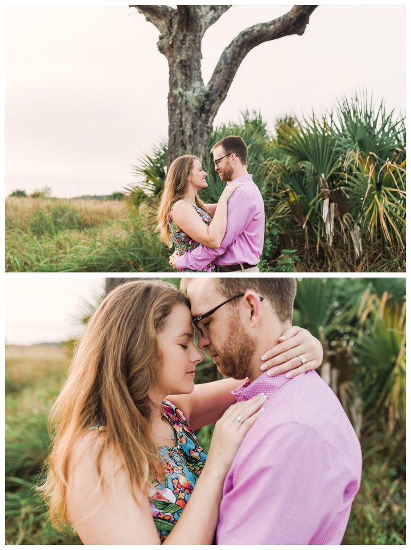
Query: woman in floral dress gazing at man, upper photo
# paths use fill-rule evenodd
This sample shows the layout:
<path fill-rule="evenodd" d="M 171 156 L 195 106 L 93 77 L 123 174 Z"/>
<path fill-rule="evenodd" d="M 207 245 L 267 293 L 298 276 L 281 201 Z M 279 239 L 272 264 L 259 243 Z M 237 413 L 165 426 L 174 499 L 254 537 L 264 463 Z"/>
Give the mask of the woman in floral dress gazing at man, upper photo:
<path fill-rule="evenodd" d="M 193 155 L 176 158 L 168 169 L 158 210 L 160 239 L 174 244 L 177 254 L 185 254 L 199 244 L 218 248 L 227 227 L 227 202 L 241 183 L 227 185 L 217 204 L 205 205 L 197 193 L 207 187 L 199 159 Z M 183 270 L 192 271 L 192 270 Z M 215 271 L 214 263 L 203 272 Z"/>

